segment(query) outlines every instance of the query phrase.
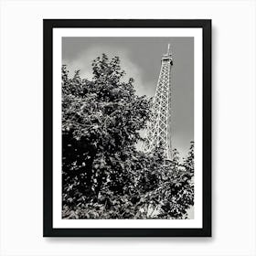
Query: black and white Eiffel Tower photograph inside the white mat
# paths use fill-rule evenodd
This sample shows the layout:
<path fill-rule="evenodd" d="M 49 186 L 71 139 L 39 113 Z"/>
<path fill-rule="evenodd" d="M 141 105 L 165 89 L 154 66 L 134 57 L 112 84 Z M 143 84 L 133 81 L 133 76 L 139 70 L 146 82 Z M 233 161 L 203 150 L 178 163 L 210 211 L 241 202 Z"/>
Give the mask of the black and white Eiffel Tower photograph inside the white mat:
<path fill-rule="evenodd" d="M 193 37 L 62 37 L 62 218 L 193 219 Z"/>

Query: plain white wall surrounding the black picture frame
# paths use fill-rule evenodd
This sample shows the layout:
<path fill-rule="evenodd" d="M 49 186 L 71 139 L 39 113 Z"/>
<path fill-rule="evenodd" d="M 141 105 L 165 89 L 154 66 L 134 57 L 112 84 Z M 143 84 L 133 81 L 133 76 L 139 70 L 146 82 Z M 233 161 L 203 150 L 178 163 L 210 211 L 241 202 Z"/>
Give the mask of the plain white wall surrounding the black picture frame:
<path fill-rule="evenodd" d="M 255 255 L 255 1 L 5 1 L 0 255 Z M 211 18 L 213 237 L 42 237 L 42 19 Z"/>

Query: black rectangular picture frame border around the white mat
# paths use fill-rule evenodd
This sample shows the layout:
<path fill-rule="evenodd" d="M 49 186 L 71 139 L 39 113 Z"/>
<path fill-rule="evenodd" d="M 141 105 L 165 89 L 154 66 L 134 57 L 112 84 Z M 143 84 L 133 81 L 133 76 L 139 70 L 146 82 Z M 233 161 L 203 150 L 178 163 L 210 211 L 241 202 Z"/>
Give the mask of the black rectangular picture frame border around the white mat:
<path fill-rule="evenodd" d="M 202 229 L 54 229 L 53 228 L 53 28 L 201 27 L 203 30 L 203 227 Z M 44 237 L 211 237 L 211 20 L 44 19 Z"/>

